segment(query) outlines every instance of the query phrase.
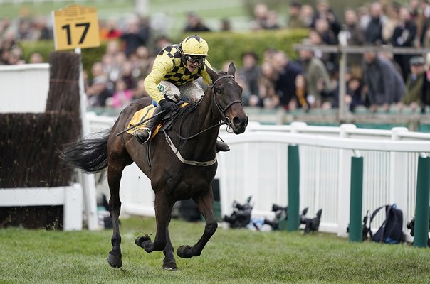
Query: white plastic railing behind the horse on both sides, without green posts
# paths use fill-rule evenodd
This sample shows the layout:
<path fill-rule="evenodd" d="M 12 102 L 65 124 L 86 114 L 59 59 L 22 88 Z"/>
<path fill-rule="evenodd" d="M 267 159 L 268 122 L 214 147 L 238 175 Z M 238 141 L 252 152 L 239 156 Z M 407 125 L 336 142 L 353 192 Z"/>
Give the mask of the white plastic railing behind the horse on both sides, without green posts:
<path fill-rule="evenodd" d="M 97 119 L 92 125 L 100 128 L 100 122 Z M 404 212 L 405 225 L 414 216 L 417 157 L 430 152 L 430 134 L 412 133 L 402 127 L 389 131 L 357 129 L 350 124 L 251 123 L 241 135 L 227 133 L 224 127 L 220 136 L 231 146 L 228 153 L 218 154 L 216 178 L 220 181 L 222 214 L 231 214 L 234 200 L 245 202 L 250 195 L 253 217 L 271 218 L 272 204 L 287 205 L 287 147 L 295 144 L 300 149 L 300 210 L 309 207 L 308 216 L 313 217 L 323 208 L 320 230 L 340 236 L 347 235 L 349 222 L 352 155 L 364 157 L 363 214 L 396 203 Z M 125 180 L 129 181 L 121 184 L 125 212 L 153 212 L 150 182 L 137 167 L 135 170 L 126 168 Z M 382 215 L 375 226 L 382 222 Z"/>

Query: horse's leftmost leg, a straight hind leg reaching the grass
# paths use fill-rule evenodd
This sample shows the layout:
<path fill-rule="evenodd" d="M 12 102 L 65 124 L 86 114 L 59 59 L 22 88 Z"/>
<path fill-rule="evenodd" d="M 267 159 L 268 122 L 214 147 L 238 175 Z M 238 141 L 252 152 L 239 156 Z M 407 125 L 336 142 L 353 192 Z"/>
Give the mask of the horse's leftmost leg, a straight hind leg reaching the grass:
<path fill-rule="evenodd" d="M 111 239 L 112 250 L 109 252 L 108 263 L 113 268 L 120 268 L 122 266 L 119 217 L 121 211 L 120 181 L 122 170 L 124 170 L 124 168 L 125 165 L 118 165 L 118 163 L 113 161 L 110 161 L 108 168 L 108 183 L 110 190 L 109 213 L 113 226 Z"/>

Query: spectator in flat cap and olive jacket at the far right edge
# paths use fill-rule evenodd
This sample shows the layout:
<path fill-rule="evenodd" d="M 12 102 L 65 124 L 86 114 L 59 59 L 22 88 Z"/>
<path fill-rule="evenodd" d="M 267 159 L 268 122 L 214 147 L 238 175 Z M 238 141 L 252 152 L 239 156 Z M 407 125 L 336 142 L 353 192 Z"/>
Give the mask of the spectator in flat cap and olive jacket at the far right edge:
<path fill-rule="evenodd" d="M 421 92 L 425 81 L 426 60 L 422 56 L 414 56 L 409 60 L 411 73 L 406 80 L 406 90 L 402 101 L 399 103 L 399 111 L 403 106 L 411 107 L 411 111 L 416 111 L 421 104 Z"/>

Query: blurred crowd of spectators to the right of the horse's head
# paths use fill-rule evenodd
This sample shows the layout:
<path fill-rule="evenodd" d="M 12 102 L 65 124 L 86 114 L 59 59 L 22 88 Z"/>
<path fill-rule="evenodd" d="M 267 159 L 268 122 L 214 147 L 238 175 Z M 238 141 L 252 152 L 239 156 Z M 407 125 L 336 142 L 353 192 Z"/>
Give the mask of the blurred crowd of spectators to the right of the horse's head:
<path fill-rule="evenodd" d="M 374 1 L 357 9 L 345 9 L 340 20 L 327 0 L 313 6 L 290 2 L 288 28 L 309 28 L 298 60 L 291 61 L 280 50 L 268 50 L 261 65 L 246 65 L 239 75 L 246 82 L 246 100 L 250 105 L 286 110 L 302 108 L 330 109 L 339 105 L 339 55 L 327 52 L 323 45 L 367 46 L 365 53 L 347 55 L 345 104 L 350 111 L 358 106 L 389 111 L 404 105 L 413 111 L 425 111 L 430 104 L 430 72 L 426 55 L 376 53 L 375 47 L 430 48 L 430 1 L 411 0 L 408 5 Z M 254 29 L 280 28 L 264 4 L 254 10 Z M 251 52 L 251 51 L 250 51 Z M 257 58 L 257 55 L 253 55 Z M 256 65 L 257 61 L 254 60 Z M 258 70 L 259 71 L 256 71 Z M 260 72 L 260 75 L 255 75 Z M 255 78 L 259 79 L 256 80 Z M 258 84 L 258 91 L 253 91 Z"/>

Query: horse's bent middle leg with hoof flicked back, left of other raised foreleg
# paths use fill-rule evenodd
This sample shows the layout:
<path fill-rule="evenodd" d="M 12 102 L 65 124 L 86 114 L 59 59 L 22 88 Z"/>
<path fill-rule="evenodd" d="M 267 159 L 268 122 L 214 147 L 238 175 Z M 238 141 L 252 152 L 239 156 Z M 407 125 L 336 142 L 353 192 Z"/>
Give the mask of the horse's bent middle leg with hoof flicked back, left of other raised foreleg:
<path fill-rule="evenodd" d="M 167 200 L 164 191 L 155 194 L 155 219 L 157 220 L 157 233 L 155 234 L 154 242 L 151 241 L 150 236 L 139 236 L 135 239 L 137 246 L 145 249 L 147 253 L 152 251 L 163 251 L 167 244 L 167 225 L 169 224 L 170 216 L 172 213 L 172 202 Z"/>

